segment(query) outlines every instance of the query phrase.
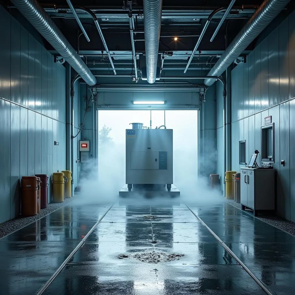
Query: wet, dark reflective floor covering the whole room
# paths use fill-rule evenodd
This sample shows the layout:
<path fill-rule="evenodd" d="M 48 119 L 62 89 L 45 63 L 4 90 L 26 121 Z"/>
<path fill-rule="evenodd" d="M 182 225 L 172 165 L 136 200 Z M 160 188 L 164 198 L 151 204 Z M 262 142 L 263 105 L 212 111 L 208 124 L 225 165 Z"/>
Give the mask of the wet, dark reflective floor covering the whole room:
<path fill-rule="evenodd" d="M 0 239 L 0 294 L 266 294 L 181 200 L 66 207 Z M 270 294 L 295 294 L 295 237 L 220 202 L 191 210 Z M 93 229 L 89 236 L 85 236 Z"/>

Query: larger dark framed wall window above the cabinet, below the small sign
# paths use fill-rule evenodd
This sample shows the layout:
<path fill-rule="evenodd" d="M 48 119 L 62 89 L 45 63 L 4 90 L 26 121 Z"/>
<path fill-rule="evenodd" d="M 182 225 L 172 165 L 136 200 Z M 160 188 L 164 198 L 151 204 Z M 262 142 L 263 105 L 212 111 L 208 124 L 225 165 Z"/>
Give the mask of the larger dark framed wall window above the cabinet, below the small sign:
<path fill-rule="evenodd" d="M 274 158 L 274 123 L 261 127 L 262 162 L 273 163 Z"/>

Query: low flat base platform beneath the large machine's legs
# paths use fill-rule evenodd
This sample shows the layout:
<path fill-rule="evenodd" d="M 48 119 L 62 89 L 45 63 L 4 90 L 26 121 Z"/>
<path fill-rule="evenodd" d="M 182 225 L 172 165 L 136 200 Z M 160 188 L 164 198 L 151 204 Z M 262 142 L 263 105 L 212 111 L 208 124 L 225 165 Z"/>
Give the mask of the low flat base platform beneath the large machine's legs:
<path fill-rule="evenodd" d="M 163 190 L 142 190 L 132 188 L 131 191 L 128 191 L 127 184 L 125 184 L 122 189 L 119 191 L 120 197 L 136 197 L 136 196 L 144 196 L 144 197 L 159 197 L 159 196 L 170 196 L 170 197 L 179 197 L 180 191 L 175 185 L 171 185 L 171 191 L 168 191 L 166 188 Z"/>

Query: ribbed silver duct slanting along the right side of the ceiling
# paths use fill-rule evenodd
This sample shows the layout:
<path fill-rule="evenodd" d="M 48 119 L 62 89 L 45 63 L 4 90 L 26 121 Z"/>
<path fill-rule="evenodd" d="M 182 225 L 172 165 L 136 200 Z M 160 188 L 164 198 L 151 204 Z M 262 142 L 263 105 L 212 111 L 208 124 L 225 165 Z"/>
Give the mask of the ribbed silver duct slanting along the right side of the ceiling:
<path fill-rule="evenodd" d="M 220 76 L 289 2 L 290 0 L 263 1 L 207 76 Z M 211 86 L 215 81 L 216 79 L 210 78 L 205 80 L 204 83 L 207 86 Z"/>

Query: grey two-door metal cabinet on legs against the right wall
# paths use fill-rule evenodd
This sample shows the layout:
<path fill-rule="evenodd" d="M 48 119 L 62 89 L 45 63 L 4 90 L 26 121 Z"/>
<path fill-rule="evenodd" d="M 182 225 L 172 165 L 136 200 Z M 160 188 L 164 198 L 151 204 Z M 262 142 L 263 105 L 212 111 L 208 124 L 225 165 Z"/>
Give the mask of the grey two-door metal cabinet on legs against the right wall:
<path fill-rule="evenodd" d="M 241 169 L 241 204 L 253 209 L 254 216 L 258 210 L 275 209 L 275 170 Z"/>

